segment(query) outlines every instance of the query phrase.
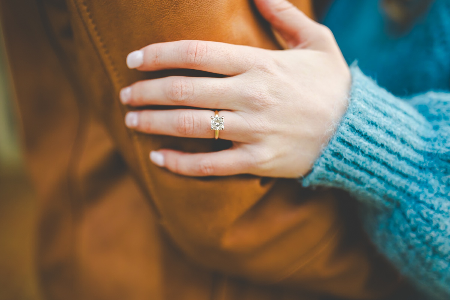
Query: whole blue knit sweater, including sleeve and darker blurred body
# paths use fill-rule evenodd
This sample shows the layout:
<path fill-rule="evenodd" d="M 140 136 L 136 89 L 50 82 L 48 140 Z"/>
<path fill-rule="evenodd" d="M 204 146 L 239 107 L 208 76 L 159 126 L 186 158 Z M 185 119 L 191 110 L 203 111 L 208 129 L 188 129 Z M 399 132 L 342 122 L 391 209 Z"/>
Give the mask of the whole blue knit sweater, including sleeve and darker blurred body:
<path fill-rule="evenodd" d="M 450 1 L 401 37 L 378 5 L 336 0 L 324 20 L 358 63 L 347 113 L 302 182 L 351 193 L 379 251 L 428 299 L 450 299 Z"/>

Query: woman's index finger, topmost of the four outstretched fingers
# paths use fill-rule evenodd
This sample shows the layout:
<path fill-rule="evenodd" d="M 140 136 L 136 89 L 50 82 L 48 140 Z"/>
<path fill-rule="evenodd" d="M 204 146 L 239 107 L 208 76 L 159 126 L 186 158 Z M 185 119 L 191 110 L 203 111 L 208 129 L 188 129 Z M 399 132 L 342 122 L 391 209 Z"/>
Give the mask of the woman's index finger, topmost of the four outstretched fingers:
<path fill-rule="evenodd" d="M 238 75 L 254 60 L 255 51 L 247 46 L 200 40 L 156 43 L 131 52 L 128 67 L 140 71 L 195 69 L 223 75 Z"/>

